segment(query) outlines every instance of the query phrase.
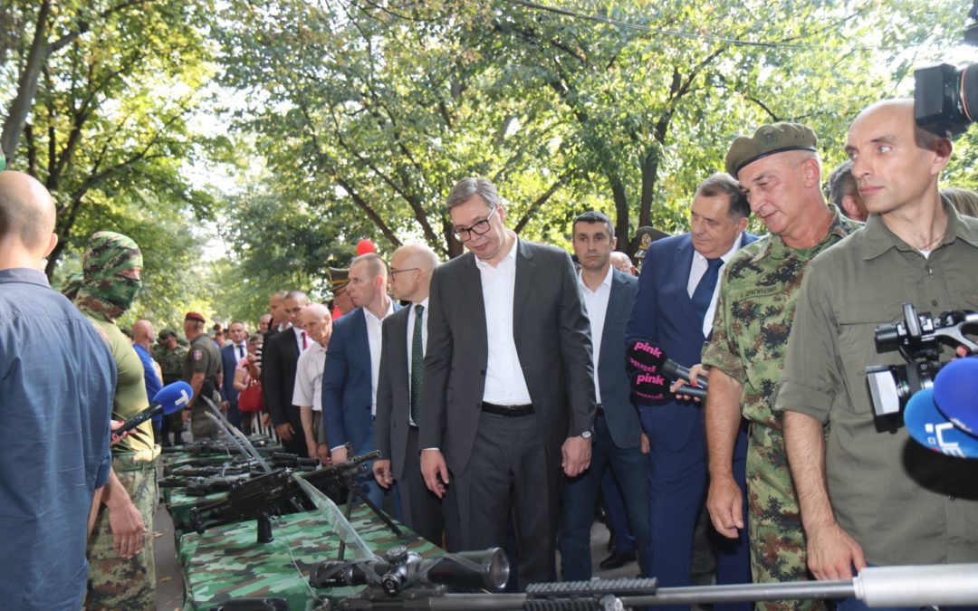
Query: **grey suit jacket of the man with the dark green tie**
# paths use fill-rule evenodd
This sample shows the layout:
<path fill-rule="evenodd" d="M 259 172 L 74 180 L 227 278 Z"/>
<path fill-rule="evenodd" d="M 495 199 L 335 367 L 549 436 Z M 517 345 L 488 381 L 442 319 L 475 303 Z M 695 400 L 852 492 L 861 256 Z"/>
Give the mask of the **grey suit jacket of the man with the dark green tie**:
<path fill-rule="evenodd" d="M 377 388 L 377 420 L 374 439 L 380 458 L 390 459 L 394 479 L 404 474 L 408 447 L 408 413 L 411 410 L 411 378 L 408 376 L 408 313 L 401 308 L 383 319 L 383 349 Z"/>

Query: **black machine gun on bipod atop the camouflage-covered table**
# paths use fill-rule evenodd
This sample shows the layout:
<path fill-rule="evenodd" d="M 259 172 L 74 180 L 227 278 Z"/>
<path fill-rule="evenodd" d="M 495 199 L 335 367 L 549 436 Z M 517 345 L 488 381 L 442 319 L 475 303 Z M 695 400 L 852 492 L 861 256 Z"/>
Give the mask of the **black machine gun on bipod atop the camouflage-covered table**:
<path fill-rule="evenodd" d="M 351 483 L 351 487 L 355 489 L 356 478 L 367 472 L 367 462 L 379 456 L 380 453 L 375 450 L 370 454 L 307 471 L 302 477 L 323 492 L 334 491 L 341 485 L 349 486 Z M 274 539 L 271 516 L 288 511 L 289 505 L 302 508 L 305 494 L 292 478 L 292 473 L 290 468 L 279 468 L 236 482 L 223 499 L 192 507 L 188 514 L 190 526 L 203 534 L 208 525 L 255 519 L 258 522 L 258 543 L 271 542 Z M 389 522 L 389 518 L 387 520 Z"/>

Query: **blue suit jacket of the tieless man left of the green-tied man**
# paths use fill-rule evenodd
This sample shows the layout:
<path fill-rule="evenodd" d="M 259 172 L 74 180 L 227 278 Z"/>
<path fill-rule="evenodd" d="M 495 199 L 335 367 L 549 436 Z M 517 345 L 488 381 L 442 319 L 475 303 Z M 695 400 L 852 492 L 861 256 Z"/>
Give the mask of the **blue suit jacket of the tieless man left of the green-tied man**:
<path fill-rule="evenodd" d="M 400 306 L 394 303 L 394 311 L 398 310 Z M 323 425 L 331 450 L 346 442 L 354 450 L 363 445 L 374 425 L 373 403 L 367 319 L 364 309 L 357 308 L 333 323 L 323 371 Z"/>

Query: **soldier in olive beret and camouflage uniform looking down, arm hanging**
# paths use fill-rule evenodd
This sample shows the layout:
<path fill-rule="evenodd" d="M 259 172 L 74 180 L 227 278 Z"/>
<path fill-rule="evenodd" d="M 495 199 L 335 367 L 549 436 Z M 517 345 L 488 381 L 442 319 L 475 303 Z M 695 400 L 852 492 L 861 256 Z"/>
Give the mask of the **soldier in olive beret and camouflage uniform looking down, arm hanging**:
<path fill-rule="evenodd" d="M 796 123 L 760 127 L 733 141 L 727 171 L 771 232 L 742 248 L 721 283 L 713 336 L 703 349 L 710 489 L 707 506 L 728 537 L 743 527 L 733 481 L 735 429 L 750 422 L 748 533 L 755 582 L 808 579 L 798 500 L 773 412 L 795 299 L 808 262 L 859 227 L 825 204 L 816 136 Z M 822 601 L 758 603 L 759 609 L 822 609 Z"/>

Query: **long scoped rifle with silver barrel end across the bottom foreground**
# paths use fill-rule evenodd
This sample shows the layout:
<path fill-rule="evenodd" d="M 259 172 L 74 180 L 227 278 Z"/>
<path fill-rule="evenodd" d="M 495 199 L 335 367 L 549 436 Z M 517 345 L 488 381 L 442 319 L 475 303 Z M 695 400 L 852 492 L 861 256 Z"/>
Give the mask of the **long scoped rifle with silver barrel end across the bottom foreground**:
<path fill-rule="evenodd" d="M 659 588 L 654 578 L 617 579 L 530 584 L 525 593 L 498 593 L 509 568 L 499 548 L 421 558 L 399 546 L 383 558 L 321 562 L 309 583 L 316 588 L 368 586 L 333 604 L 333 610 L 620 611 L 666 604 L 842 598 L 858 598 L 869 607 L 978 603 L 976 564 L 867 567 L 851 580 L 825 582 Z M 475 591 L 479 589 L 483 591 Z"/>

